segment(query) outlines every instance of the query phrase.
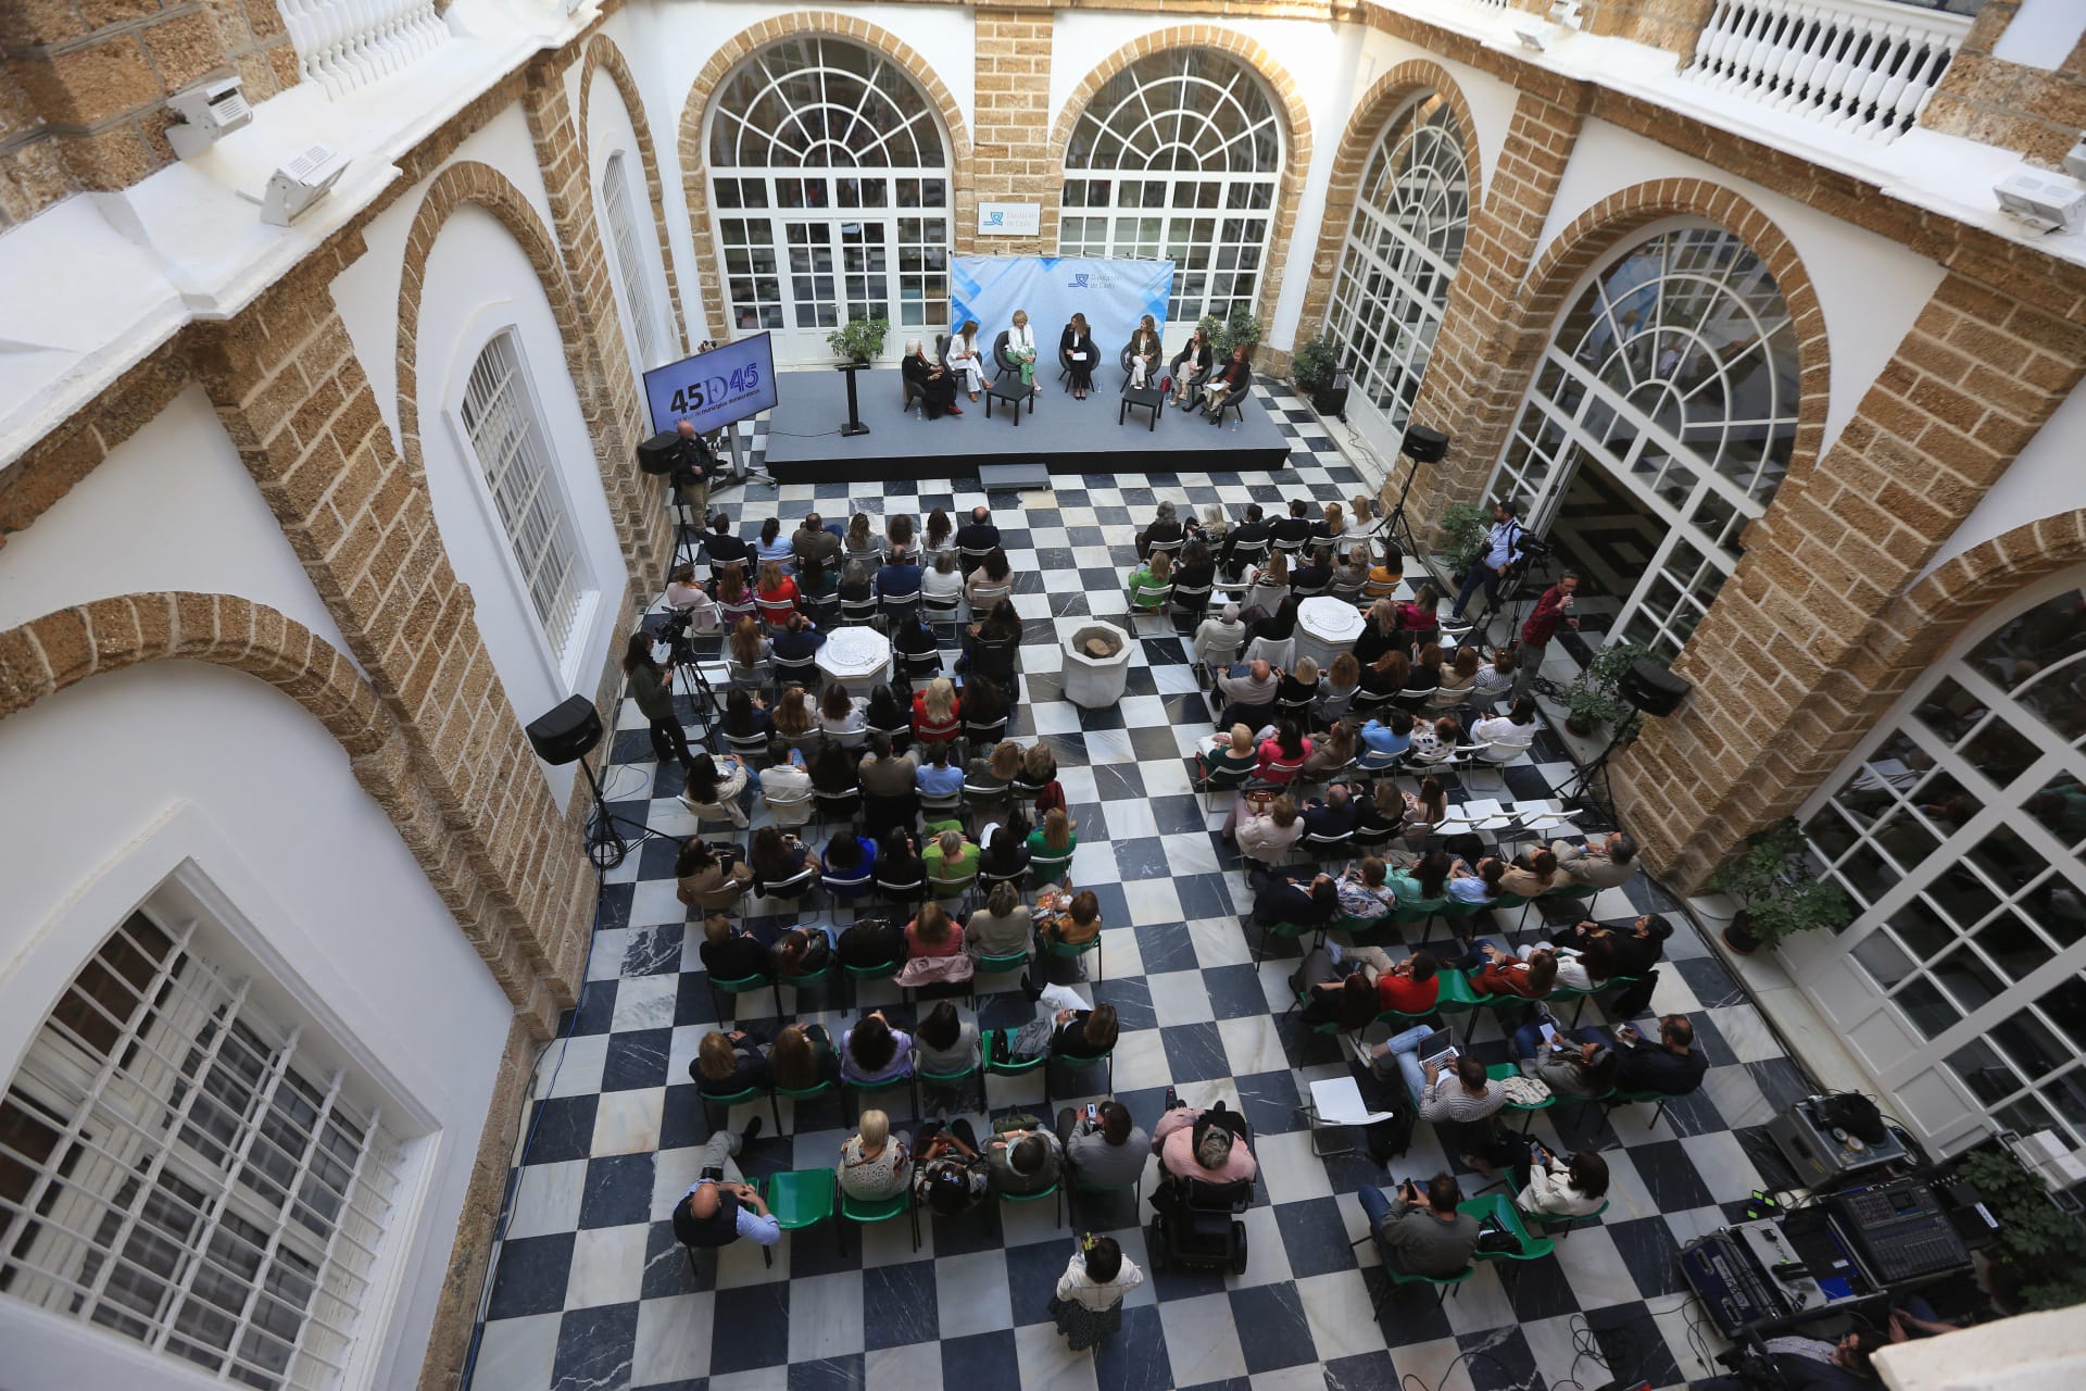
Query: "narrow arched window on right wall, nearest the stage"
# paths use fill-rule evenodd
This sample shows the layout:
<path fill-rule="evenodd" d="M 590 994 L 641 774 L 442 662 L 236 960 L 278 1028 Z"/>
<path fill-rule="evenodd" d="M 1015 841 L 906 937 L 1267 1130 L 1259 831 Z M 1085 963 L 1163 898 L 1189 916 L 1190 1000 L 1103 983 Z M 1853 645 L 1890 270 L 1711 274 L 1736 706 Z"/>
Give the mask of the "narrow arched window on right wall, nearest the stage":
<path fill-rule="evenodd" d="M 1391 434 L 1412 415 L 1469 225 L 1462 125 L 1437 92 L 1421 92 L 1368 156 L 1327 315 L 1341 365 Z"/>

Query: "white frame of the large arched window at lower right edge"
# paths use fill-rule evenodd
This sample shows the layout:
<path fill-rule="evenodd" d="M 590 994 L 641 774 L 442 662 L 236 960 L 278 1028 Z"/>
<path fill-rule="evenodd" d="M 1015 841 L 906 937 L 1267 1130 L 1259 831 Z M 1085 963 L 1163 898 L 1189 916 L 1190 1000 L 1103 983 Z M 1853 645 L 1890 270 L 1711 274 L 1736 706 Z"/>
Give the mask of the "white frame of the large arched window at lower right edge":
<path fill-rule="evenodd" d="M 2009 918 L 2009 905 L 2026 899 L 2032 888 L 2055 882 L 2086 899 L 2086 863 L 2080 859 L 2080 853 L 2086 851 L 2061 840 L 2023 807 L 2055 778 L 2069 776 L 2086 782 L 2086 749 L 2065 745 L 2057 730 L 1965 661 L 1967 653 L 2007 624 L 2067 592 L 2076 594 L 2082 586 L 2086 586 L 2086 569 L 2073 567 L 1996 605 L 1957 638 L 1942 661 L 1919 674 L 1890 707 L 1890 713 L 1877 719 L 1875 728 L 1796 813 L 1804 826 L 1817 826 L 1821 836 L 1825 832 L 1821 817 L 1852 832 L 1848 849 L 1821 857 L 1821 874 L 1848 890 L 1857 916 L 1838 934 L 1792 938 L 1781 947 L 1781 955 L 1790 961 L 1790 974 L 1804 995 L 1875 1076 L 1877 1093 L 1892 1099 L 1898 1114 L 1930 1145 L 1946 1151 L 1963 1149 L 1990 1130 L 2013 1128 L 2011 1120 L 1998 1118 L 1998 1114 L 2023 1097 L 2048 1093 L 2053 1082 L 2071 1089 L 2086 1087 L 2086 1061 L 2082 1061 L 2086 1049 L 2067 1047 L 2061 1066 L 2030 1076 L 2028 1064 L 2007 1057 L 2000 1045 L 1990 1043 L 1992 1032 L 2003 1026 L 2040 1028 L 2065 1041 L 2059 1016 L 2038 1001 L 2048 991 L 2086 974 L 2086 938 L 2063 945 L 2055 932 L 2044 930 L 2042 920 L 2034 913 L 2021 913 L 2028 930 L 2042 938 L 2051 955 L 2026 976 L 2013 978 L 2013 972 L 1986 951 L 1986 938 L 1978 936 L 1984 926 L 2003 926 Z M 2086 653 L 2071 657 L 2069 665 L 2063 667 L 2051 661 L 2038 680 L 2057 680 L 2069 674 L 2076 682 L 2082 672 L 2086 672 Z M 1984 707 L 1984 715 L 1952 738 L 1919 717 L 1919 709 L 1942 690 L 1944 682 L 1955 682 Z M 2036 751 L 2036 757 L 2005 786 L 1988 778 L 1980 763 L 1963 753 L 1992 722 L 2005 722 Z M 1898 749 L 1917 751 L 1917 757 L 1927 765 L 1915 767 L 1898 757 L 1886 757 L 1871 765 L 1879 753 Z M 1925 782 L 1936 776 L 1952 780 L 1971 803 L 1969 815 L 1959 826 L 1950 828 L 1950 817 L 1921 809 L 1936 805 L 1927 801 L 1930 795 L 1942 795 L 1932 782 Z M 1836 799 L 1844 799 L 1848 792 L 1865 797 L 1869 805 L 1882 805 L 1888 799 L 1890 807 L 1863 826 L 1859 813 L 1842 809 L 1844 801 L 1836 805 Z M 1900 830 L 1915 834 L 1909 845 L 1919 847 L 1917 853 L 1913 849 L 1894 853 L 1888 840 L 1875 836 L 1877 830 L 1898 826 L 1900 820 L 1907 824 Z M 2028 888 L 2011 888 L 1988 874 L 1971 851 L 1994 832 L 2015 836 L 2046 863 L 2046 872 Z M 1838 836 L 1827 836 L 1827 849 L 1836 840 Z M 1927 840 L 1934 843 L 1932 851 L 1925 849 Z M 1867 857 L 1875 870 L 1852 874 L 1859 855 Z M 1898 863 L 1900 855 L 1911 863 Z M 1894 874 L 1896 878 L 1871 899 L 1869 882 L 1877 870 L 1882 876 Z M 1944 874 L 1971 876 L 1992 895 L 1992 905 L 1975 920 L 1959 924 L 1946 905 L 1932 899 L 1923 905 L 1917 903 L 1923 890 L 1940 884 Z M 1919 911 L 1925 922 L 1952 934 L 1955 941 L 1940 947 L 1921 945 L 1917 938 L 1900 941 L 1900 928 L 1892 920 L 1909 916 L 1909 911 Z M 1957 997 L 1950 980 L 1959 976 L 1932 970 L 1952 963 L 1959 955 L 1969 957 L 1959 970 L 1984 972 L 2003 982 L 1990 1001 L 1973 1003 Z M 1886 974 L 1894 978 L 1886 982 Z M 1957 1014 L 1957 1022 L 1930 1036 L 1898 1003 L 1915 986 L 1938 993 L 1940 1001 Z M 2086 1034 L 2086 1024 L 2071 1020 L 2071 1032 Z M 2017 1087 L 1992 1101 L 1975 1095 L 1952 1066 L 1959 1053 L 1980 1047 L 1990 1053 L 1990 1061 L 2017 1080 Z M 2061 1120 L 2059 1107 L 2048 1109 Z M 2059 1137 L 2073 1149 L 2086 1147 L 2086 1122 L 2061 1120 L 2063 1124 L 2069 1124 L 2071 1132 L 2065 1134 L 2059 1128 Z"/>

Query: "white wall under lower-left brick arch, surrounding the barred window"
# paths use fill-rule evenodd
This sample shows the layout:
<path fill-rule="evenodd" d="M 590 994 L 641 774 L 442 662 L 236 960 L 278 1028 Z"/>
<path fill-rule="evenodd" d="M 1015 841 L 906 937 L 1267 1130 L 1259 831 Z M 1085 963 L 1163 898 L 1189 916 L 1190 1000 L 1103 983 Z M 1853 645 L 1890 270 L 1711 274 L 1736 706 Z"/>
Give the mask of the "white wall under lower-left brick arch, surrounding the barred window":
<path fill-rule="evenodd" d="M 317 1051 L 415 1137 L 357 1351 L 359 1385 L 411 1385 L 511 1009 L 346 753 L 250 676 L 156 661 L 0 722 L 0 786 L 21 792 L 0 805 L 0 1074 L 108 930 L 194 861 L 250 924 L 221 959 L 254 970 L 271 1014 L 298 999 Z M 0 1347 L 8 1391 L 215 1385 L 15 1299 Z"/>

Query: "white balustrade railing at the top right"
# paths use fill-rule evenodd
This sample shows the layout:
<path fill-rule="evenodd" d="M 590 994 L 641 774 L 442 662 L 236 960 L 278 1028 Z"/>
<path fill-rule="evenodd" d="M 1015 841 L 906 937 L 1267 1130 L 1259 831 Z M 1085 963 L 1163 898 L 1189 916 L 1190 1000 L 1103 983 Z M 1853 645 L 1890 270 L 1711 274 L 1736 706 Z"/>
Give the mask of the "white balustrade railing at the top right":
<path fill-rule="evenodd" d="M 1919 119 L 1969 25 L 1884 0 L 1717 0 L 1685 77 L 1890 142 Z"/>

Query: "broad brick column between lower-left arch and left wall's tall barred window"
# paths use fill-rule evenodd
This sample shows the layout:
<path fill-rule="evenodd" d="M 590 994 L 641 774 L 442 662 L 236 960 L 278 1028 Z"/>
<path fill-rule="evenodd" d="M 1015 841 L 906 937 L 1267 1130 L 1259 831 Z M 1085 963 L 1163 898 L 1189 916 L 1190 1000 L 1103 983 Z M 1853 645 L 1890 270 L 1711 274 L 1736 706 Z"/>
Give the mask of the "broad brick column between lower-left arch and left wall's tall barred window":
<path fill-rule="evenodd" d="M 401 834 L 426 836 L 455 865 L 436 888 L 459 922 L 509 922 L 542 989 L 567 1007 L 584 972 L 592 876 L 448 567 L 426 482 L 392 446 L 334 311 L 328 284 L 363 252 L 348 242 L 200 332 L 196 375 L 398 722 L 403 738 L 369 757 L 409 761 L 426 786 L 426 801 L 392 807 Z M 357 774 L 369 786 L 375 770 Z"/>

